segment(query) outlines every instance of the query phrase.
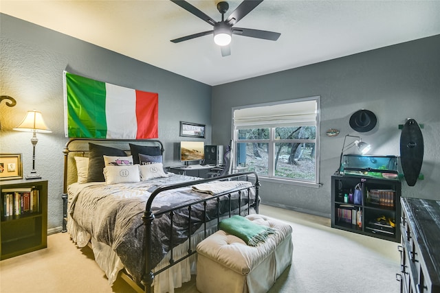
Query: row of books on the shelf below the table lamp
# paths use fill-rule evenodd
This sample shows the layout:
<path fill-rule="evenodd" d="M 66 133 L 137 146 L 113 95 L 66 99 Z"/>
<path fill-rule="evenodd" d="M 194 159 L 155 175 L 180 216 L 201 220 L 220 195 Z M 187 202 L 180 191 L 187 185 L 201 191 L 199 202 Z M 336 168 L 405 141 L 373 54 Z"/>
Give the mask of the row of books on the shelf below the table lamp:
<path fill-rule="evenodd" d="M 3 217 L 40 211 L 39 189 L 32 187 L 2 189 L 1 201 Z"/>

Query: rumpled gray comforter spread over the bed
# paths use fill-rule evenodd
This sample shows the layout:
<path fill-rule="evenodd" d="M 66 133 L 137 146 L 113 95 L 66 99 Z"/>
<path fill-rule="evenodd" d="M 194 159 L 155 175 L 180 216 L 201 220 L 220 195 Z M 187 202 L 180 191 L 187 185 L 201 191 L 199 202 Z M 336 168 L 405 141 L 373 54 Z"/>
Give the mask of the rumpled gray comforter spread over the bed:
<path fill-rule="evenodd" d="M 172 175 L 168 178 L 157 178 L 140 183 L 121 183 L 105 185 L 103 183 L 88 184 L 85 187 L 69 188 L 69 213 L 76 223 L 91 234 L 99 242 L 111 246 L 118 254 L 124 267 L 133 280 L 140 282 L 144 274 L 144 233 L 142 215 L 146 200 L 157 187 L 181 183 L 198 178 Z M 217 182 L 219 183 L 219 182 Z M 228 185 L 236 183 L 250 186 L 245 181 L 228 181 Z M 221 184 L 221 183 L 220 183 Z M 215 183 L 214 183 L 215 185 Z M 220 191 L 219 185 L 212 190 Z M 228 186 L 228 190 L 231 186 Z M 203 185 L 206 189 L 206 185 Z M 223 187 L 224 189 L 225 187 Z M 173 189 L 160 193 L 153 201 L 153 213 L 166 211 L 178 205 L 210 197 L 208 193 L 197 192 L 191 187 Z M 232 193 L 231 209 L 239 206 L 237 193 Z M 254 202 L 254 190 L 252 200 Z M 248 207 L 247 196 L 242 196 L 241 205 Z M 228 213 L 230 207 L 227 198 L 219 203 L 220 214 Z M 185 242 L 188 235 L 194 233 L 203 224 L 203 204 L 191 209 L 191 227 L 188 230 L 188 209 L 175 211 L 173 215 L 173 233 L 170 239 L 170 214 L 155 216 L 152 226 L 152 264 L 153 268 L 173 247 Z M 207 205 L 206 220 L 217 218 L 217 200 Z M 172 244 L 171 244 L 172 243 Z"/>

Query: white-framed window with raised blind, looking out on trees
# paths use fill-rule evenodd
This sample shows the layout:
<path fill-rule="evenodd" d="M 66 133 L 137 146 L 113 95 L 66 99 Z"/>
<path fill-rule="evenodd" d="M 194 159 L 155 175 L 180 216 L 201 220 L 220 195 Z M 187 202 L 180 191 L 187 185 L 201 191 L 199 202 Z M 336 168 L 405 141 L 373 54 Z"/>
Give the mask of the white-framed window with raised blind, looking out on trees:
<path fill-rule="evenodd" d="M 232 109 L 234 165 L 262 178 L 319 183 L 320 97 Z"/>

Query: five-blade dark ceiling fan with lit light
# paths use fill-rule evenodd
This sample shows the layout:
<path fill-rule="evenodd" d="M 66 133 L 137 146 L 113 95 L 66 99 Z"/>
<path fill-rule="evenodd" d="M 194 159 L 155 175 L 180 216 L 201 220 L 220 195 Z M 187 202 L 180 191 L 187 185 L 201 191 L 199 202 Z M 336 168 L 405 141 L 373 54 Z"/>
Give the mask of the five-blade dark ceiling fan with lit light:
<path fill-rule="evenodd" d="M 173 43 L 180 43 L 184 40 L 191 40 L 192 38 L 198 38 L 199 36 L 206 36 L 208 34 L 214 34 L 214 42 L 221 48 L 221 56 L 229 56 L 231 54 L 230 41 L 232 34 L 239 36 L 249 36 L 251 38 L 263 38 L 264 40 L 278 40 L 281 36 L 278 32 L 268 32 L 265 30 L 252 30 L 243 27 L 234 27 L 244 16 L 249 12 L 254 10 L 263 0 L 244 0 L 240 5 L 234 10 L 230 16 L 225 20 L 225 13 L 229 9 L 228 2 L 221 1 L 217 3 L 217 10 L 221 13 L 221 21 L 214 21 L 210 16 L 204 14 L 199 9 L 195 8 L 190 3 L 184 0 L 170 0 L 184 10 L 194 14 L 199 19 L 206 21 L 213 26 L 213 30 L 206 32 L 199 32 L 197 34 L 190 34 L 189 36 L 183 36 L 181 38 L 175 38 L 171 40 Z"/>

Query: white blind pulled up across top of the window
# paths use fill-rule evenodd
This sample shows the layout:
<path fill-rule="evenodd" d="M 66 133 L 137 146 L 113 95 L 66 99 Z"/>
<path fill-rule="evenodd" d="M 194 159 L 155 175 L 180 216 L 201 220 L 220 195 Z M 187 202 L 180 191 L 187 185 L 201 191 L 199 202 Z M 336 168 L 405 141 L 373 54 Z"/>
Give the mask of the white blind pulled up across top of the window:
<path fill-rule="evenodd" d="M 312 126 L 316 125 L 316 100 L 252 106 L 234 110 L 234 126 Z"/>

